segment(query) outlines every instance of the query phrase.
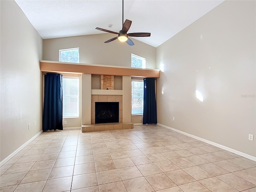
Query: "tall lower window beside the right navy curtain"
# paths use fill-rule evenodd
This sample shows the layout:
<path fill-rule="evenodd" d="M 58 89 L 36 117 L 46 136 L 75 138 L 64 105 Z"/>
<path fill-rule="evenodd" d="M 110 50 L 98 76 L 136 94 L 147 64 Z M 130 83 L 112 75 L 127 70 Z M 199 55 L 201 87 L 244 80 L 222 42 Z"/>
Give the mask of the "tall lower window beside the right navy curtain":
<path fill-rule="evenodd" d="M 132 79 L 132 115 L 143 114 L 143 97 L 143 79 Z"/>

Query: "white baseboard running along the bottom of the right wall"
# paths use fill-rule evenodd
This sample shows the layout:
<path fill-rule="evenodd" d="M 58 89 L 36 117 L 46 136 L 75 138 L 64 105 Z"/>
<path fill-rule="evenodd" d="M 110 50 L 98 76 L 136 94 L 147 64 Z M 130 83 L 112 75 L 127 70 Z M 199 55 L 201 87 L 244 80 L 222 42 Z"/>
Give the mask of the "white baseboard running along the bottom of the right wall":
<path fill-rule="evenodd" d="M 224 150 L 226 150 L 226 151 L 232 152 L 232 153 L 234 153 L 234 154 L 240 155 L 240 156 L 245 157 L 245 158 L 247 158 L 247 159 L 256 161 L 256 157 L 251 156 L 251 155 L 249 155 L 249 154 L 246 154 L 246 153 L 243 153 L 243 152 L 234 150 L 234 149 L 232 149 L 232 148 L 226 147 L 226 146 L 224 146 L 224 145 L 220 145 L 220 144 L 218 144 L 218 143 L 214 143 L 214 142 L 212 142 L 212 141 L 209 141 L 209 140 L 200 138 L 200 137 L 198 137 L 198 136 L 194 136 L 194 135 L 192 135 L 192 134 L 189 134 L 189 133 L 186 133 L 186 132 L 183 132 L 183 131 L 174 129 L 174 128 L 172 128 L 172 127 L 168 127 L 168 126 L 166 126 L 166 125 L 162 125 L 162 124 L 160 124 L 160 123 L 158 123 L 158 125 L 159 125 L 159 126 L 162 126 L 162 127 L 164 127 L 164 128 L 167 128 L 167 129 L 176 131 L 176 132 L 181 133 L 181 134 L 183 134 L 183 135 L 192 137 L 192 138 L 194 138 L 194 139 L 200 140 L 200 141 L 202 141 L 202 142 L 211 144 L 211 145 L 213 145 L 213 146 L 216 146 L 216 147 L 218 147 L 218 148 L 224 149 Z"/>

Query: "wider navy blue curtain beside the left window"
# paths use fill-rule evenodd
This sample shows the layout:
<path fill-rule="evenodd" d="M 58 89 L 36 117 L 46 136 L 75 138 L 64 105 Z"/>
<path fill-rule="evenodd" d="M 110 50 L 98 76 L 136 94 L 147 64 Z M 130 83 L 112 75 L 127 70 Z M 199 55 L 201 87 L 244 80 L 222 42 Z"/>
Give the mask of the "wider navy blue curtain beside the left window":
<path fill-rule="evenodd" d="M 62 74 L 44 75 L 43 131 L 63 130 L 62 125 Z"/>

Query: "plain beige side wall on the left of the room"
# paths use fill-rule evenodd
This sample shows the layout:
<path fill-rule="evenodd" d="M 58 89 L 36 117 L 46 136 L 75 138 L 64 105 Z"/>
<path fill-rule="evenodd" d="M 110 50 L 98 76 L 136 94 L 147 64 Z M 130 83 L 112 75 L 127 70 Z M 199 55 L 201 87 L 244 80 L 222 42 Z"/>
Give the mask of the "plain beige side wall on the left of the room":
<path fill-rule="evenodd" d="M 15 1 L 1 0 L 0 7 L 2 161 L 42 130 L 42 38 Z"/>

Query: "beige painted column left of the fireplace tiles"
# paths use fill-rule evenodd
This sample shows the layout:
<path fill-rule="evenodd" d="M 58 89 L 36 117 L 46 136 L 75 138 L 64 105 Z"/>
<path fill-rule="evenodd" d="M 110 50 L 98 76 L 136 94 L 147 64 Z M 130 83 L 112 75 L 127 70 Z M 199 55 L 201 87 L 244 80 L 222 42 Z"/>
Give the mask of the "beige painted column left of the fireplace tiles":
<path fill-rule="evenodd" d="M 82 125 L 91 124 L 92 75 L 82 74 Z"/>

